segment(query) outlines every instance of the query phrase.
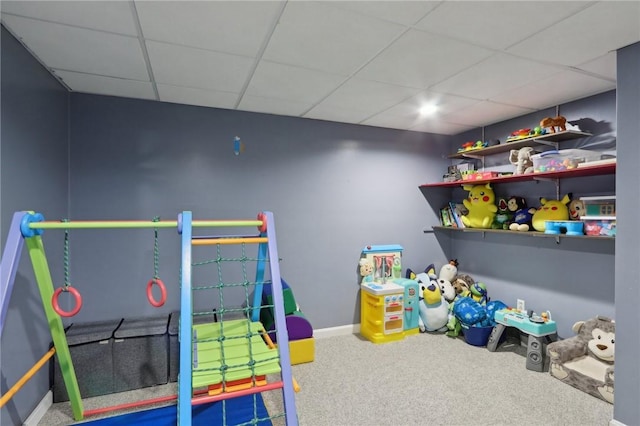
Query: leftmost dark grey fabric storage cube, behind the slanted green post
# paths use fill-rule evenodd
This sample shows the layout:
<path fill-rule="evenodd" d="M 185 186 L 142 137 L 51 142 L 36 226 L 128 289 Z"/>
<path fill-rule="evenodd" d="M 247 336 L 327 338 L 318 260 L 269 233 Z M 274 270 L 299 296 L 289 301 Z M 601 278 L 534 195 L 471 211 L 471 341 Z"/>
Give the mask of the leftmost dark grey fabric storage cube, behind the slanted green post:
<path fill-rule="evenodd" d="M 72 324 L 67 329 L 67 344 L 82 398 L 114 392 L 113 334 L 121 322 L 122 319 Z M 68 401 L 57 355 L 52 376 L 53 402 Z"/>

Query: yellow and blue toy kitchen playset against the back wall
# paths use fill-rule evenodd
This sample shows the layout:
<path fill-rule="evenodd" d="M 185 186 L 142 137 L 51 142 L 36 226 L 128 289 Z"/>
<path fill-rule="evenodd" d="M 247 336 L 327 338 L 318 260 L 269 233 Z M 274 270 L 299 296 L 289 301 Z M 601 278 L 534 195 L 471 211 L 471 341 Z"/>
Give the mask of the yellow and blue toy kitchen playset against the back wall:
<path fill-rule="evenodd" d="M 358 265 L 360 334 L 373 343 L 418 334 L 418 282 L 402 278 L 402 247 L 367 246 Z"/>

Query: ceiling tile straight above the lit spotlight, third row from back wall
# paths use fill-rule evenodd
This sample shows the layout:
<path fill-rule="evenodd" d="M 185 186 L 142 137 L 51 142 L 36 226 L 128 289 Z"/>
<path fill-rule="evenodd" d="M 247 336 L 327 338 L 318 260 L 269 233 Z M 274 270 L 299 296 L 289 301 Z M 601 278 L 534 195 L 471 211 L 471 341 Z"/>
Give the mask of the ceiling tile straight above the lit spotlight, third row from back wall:
<path fill-rule="evenodd" d="M 449 38 L 410 30 L 356 77 L 426 89 L 492 53 Z"/>

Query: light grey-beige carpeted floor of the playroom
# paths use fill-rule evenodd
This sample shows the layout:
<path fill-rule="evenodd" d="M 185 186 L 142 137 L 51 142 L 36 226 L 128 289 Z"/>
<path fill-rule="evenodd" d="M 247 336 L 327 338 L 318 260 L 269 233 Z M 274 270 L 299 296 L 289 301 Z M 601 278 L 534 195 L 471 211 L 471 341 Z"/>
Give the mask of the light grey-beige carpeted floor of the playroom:
<path fill-rule="evenodd" d="M 606 426 L 613 406 L 548 372 L 525 367 L 526 348 L 506 342 L 498 351 L 442 334 L 420 334 L 381 345 L 359 335 L 316 339 L 314 362 L 293 366 L 301 426 L 558 425 Z M 175 393 L 174 385 L 89 398 L 85 408 Z M 279 391 L 263 394 L 273 415 Z M 273 424 L 284 424 L 275 419 Z M 68 403 L 54 404 L 40 425 L 68 425 Z"/>

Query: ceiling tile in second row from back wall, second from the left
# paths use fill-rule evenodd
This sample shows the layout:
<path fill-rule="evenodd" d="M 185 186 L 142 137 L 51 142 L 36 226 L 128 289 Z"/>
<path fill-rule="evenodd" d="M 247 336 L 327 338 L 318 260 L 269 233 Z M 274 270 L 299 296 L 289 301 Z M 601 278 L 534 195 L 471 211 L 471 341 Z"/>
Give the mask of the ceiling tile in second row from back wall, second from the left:
<path fill-rule="evenodd" d="M 147 41 L 158 83 L 240 93 L 254 60 L 191 47 Z"/>

